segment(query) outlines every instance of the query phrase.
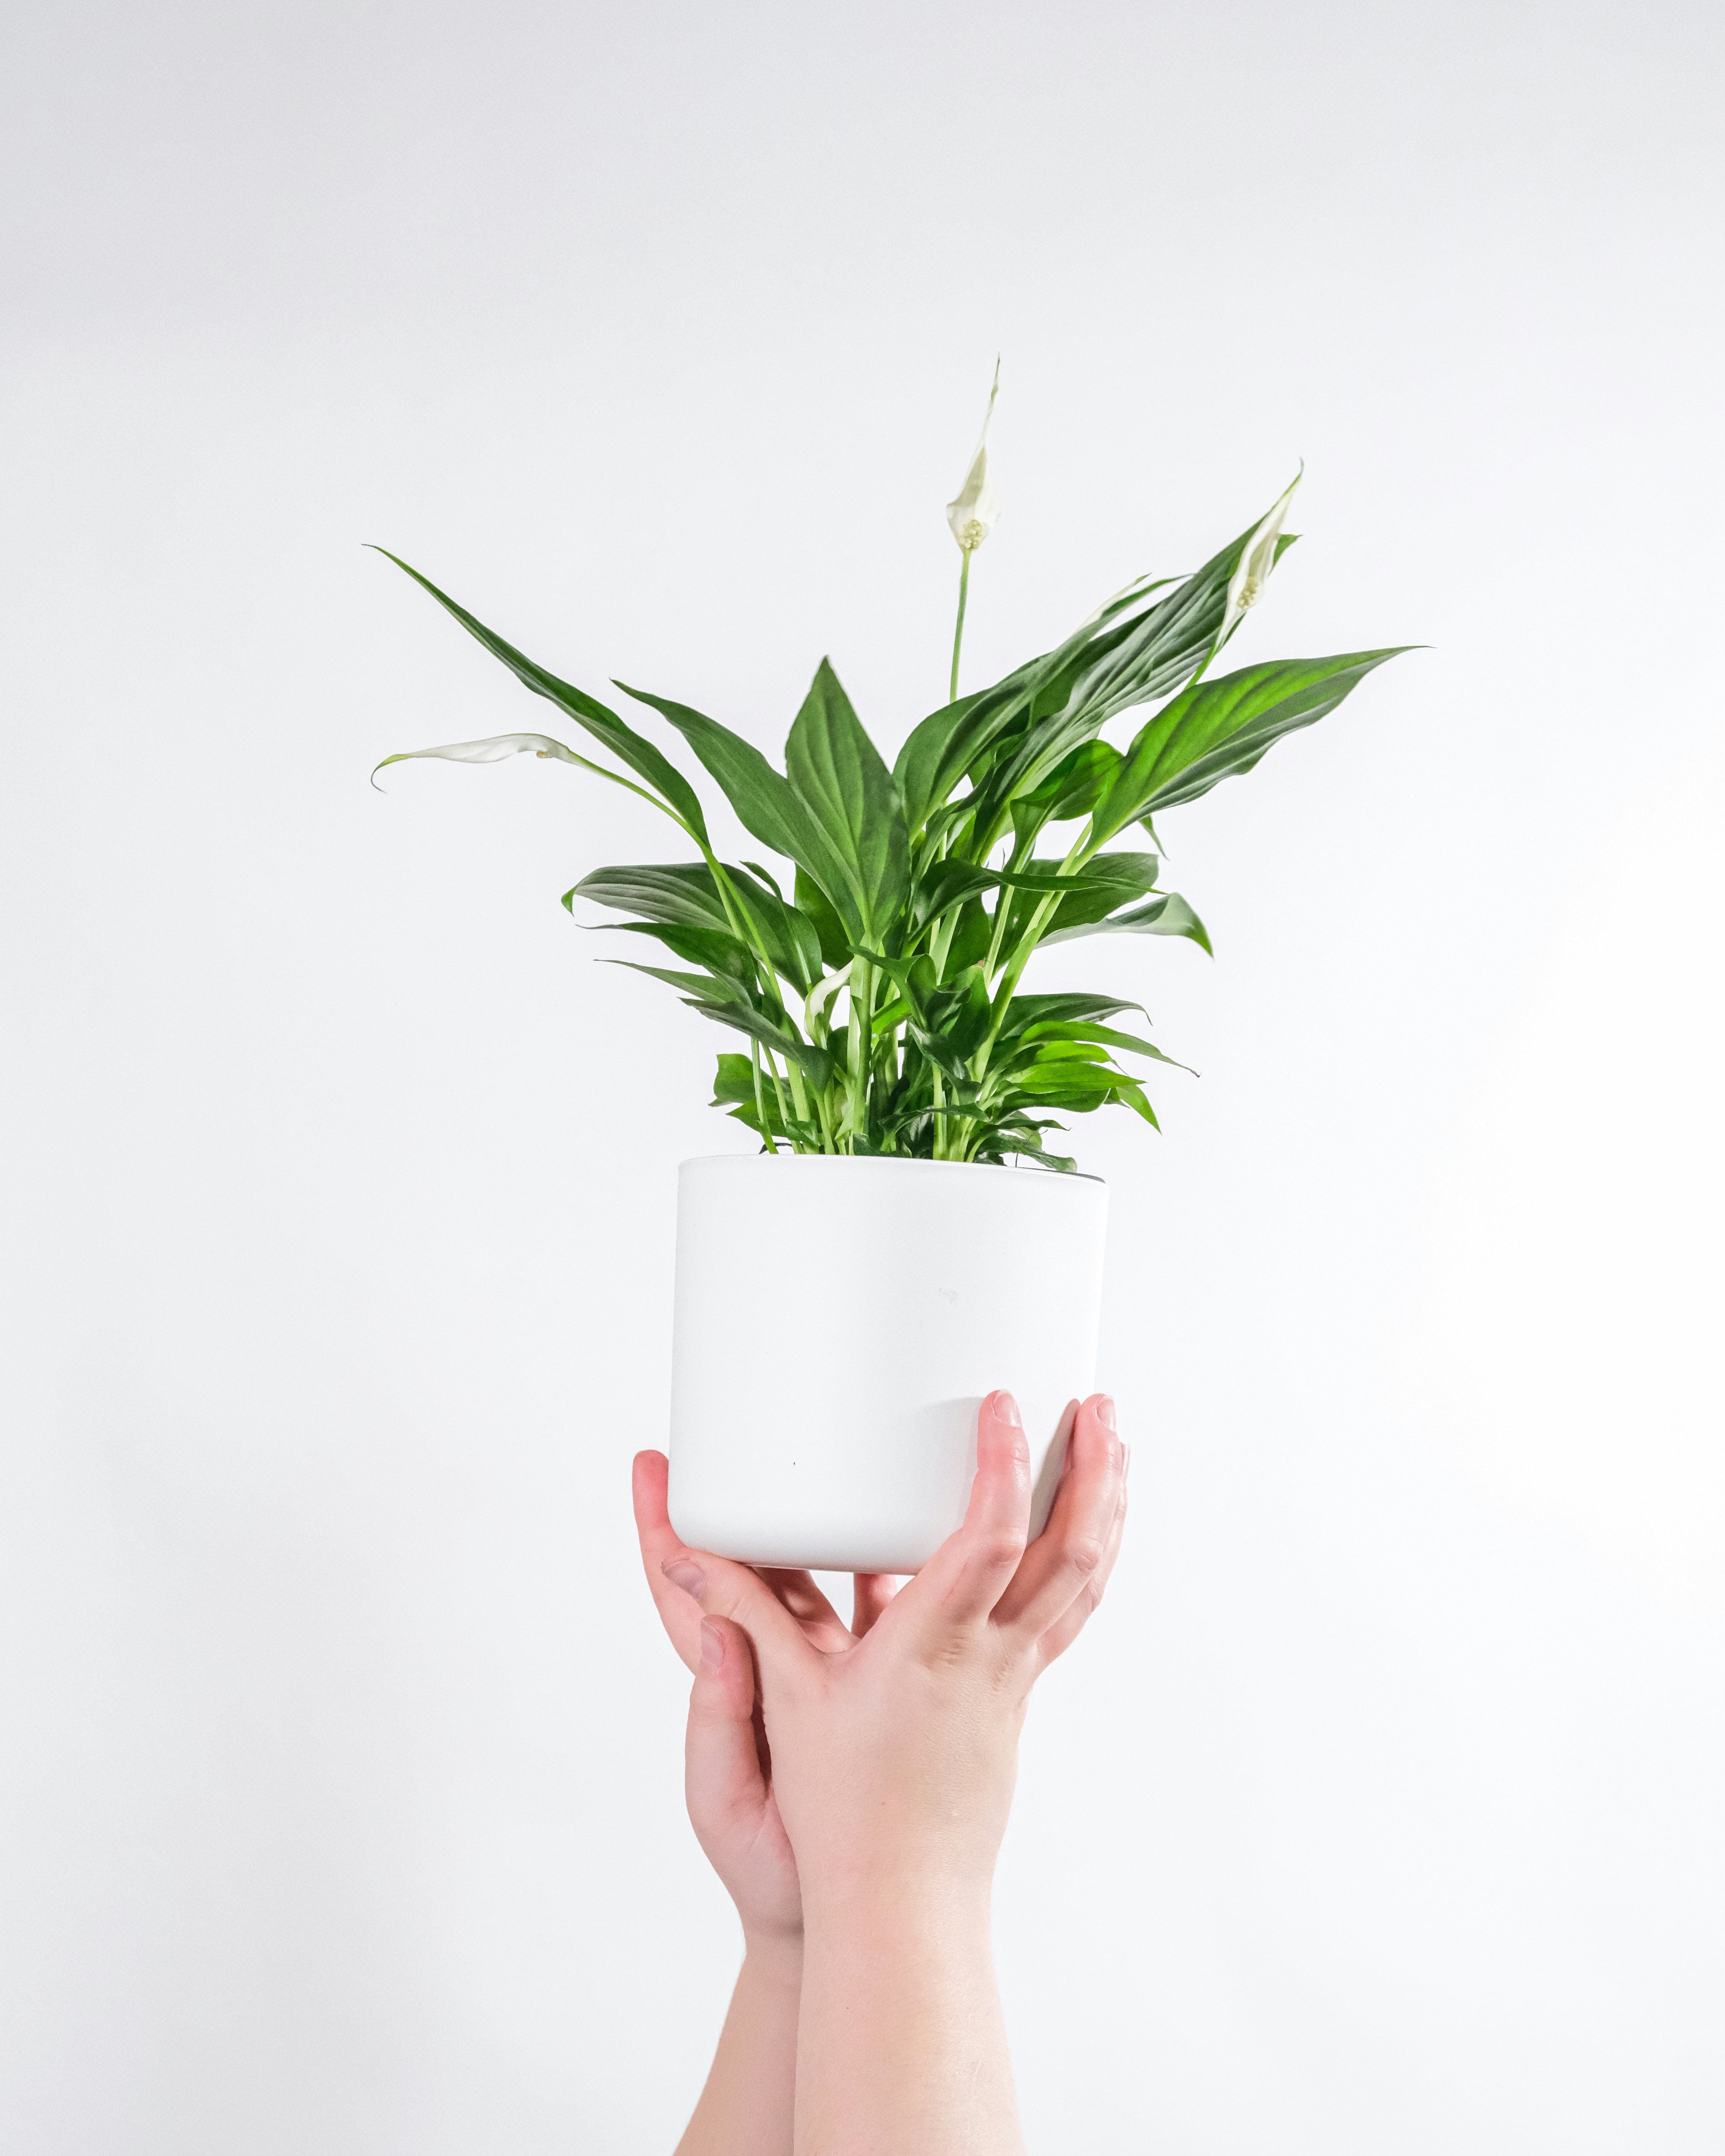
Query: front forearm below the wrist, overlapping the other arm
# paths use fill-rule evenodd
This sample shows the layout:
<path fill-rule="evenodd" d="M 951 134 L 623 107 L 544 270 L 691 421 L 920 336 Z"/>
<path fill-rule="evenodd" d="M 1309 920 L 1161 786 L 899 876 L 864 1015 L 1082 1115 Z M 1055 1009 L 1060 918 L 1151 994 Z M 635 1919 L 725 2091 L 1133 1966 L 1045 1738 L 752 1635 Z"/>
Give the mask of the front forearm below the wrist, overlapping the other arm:
<path fill-rule="evenodd" d="M 988 1891 L 804 1884 L 796 2156 L 1022 2156 Z"/>

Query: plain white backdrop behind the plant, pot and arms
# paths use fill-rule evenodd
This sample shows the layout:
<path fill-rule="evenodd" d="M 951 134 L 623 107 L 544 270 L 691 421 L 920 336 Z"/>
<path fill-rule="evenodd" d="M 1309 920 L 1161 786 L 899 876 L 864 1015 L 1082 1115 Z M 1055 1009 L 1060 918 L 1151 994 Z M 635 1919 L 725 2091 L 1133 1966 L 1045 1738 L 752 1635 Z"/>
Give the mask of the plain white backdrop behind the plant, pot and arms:
<path fill-rule="evenodd" d="M 1719 15 L 84 6 L 4 142 L 0 2141 L 668 2150 L 735 1932 L 636 1578 L 722 1046 L 554 668 L 895 748 L 1285 485 L 1167 819 L 1117 1587 L 998 1949 L 1046 2156 L 1725 2141 Z M 761 1253 L 802 1263 L 800 1253 Z M 1026 1268 L 1059 1266 L 1026 1250 Z M 878 1352 L 834 1313 L 832 1371 Z M 1000 1373 L 1009 1382 L 1007 1371 Z"/>

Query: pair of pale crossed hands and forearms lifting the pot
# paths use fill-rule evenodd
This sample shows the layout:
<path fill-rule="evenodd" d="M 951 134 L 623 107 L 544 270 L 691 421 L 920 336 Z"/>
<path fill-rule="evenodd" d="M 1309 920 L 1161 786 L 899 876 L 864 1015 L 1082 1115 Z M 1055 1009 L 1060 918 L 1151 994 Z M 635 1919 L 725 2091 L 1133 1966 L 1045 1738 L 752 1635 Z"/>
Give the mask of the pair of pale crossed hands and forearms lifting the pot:
<path fill-rule="evenodd" d="M 964 1526 L 845 1626 L 806 1572 L 690 1550 L 634 1464 L 647 1583 L 694 1671 L 686 1792 L 744 1966 L 677 2156 L 1022 2156 L 988 1910 L 1031 1686 L 1126 1524 L 1113 1401 L 1074 1419 L 1029 1542 L 1018 1408 L 990 1393 Z"/>

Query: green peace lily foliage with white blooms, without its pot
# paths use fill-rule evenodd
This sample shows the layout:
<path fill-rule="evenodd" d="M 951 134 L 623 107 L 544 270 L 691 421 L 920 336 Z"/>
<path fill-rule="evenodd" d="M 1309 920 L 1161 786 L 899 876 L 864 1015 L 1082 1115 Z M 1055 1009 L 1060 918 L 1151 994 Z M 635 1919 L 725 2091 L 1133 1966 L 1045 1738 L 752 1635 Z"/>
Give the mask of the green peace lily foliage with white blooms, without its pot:
<path fill-rule="evenodd" d="M 988 416 L 996 390 L 998 367 Z M 746 1052 L 718 1059 L 714 1106 L 755 1130 L 763 1151 L 1072 1169 L 1046 1143 L 1065 1128 L 1059 1117 L 1117 1104 L 1154 1125 L 1121 1059 L 1171 1059 L 1141 1031 L 1110 1024 L 1121 1013 L 1143 1018 L 1136 1003 L 1026 992 L 1033 955 L 1106 934 L 1184 936 L 1210 951 L 1186 899 L 1160 888 L 1154 817 L 1248 772 L 1408 649 L 1212 671 L 1294 545 L 1283 520 L 1296 485 L 1195 573 L 1136 578 L 1052 651 L 960 696 L 970 563 L 998 517 L 985 418 L 947 507 L 962 556 L 949 701 L 912 729 L 891 768 L 828 660 L 791 724 L 783 770 L 716 718 L 615 683 L 681 735 L 778 858 L 776 871 L 720 860 L 701 798 L 656 742 L 395 554 L 612 761 L 543 733 L 502 733 L 408 750 L 377 770 L 410 757 L 496 763 L 530 750 L 597 772 L 666 815 L 699 860 L 595 869 L 563 903 L 632 916 L 627 931 L 679 962 L 636 970 L 742 1035 Z M 1102 735 L 1126 711 L 1149 716 L 1115 746 Z M 1151 849 L 1115 843 L 1138 830 Z"/>

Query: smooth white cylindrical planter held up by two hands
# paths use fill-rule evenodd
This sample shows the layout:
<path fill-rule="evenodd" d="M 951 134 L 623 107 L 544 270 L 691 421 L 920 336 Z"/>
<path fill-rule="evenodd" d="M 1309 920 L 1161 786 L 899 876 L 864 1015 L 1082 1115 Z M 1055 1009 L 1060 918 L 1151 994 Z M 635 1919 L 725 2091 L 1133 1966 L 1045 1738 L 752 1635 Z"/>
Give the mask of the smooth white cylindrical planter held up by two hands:
<path fill-rule="evenodd" d="M 1095 1382 L 1108 1192 L 944 1160 L 686 1160 L 671 1522 L 755 1565 L 916 1572 L 964 1520 L 977 1408 L 1031 1436 L 1041 1531 Z"/>

